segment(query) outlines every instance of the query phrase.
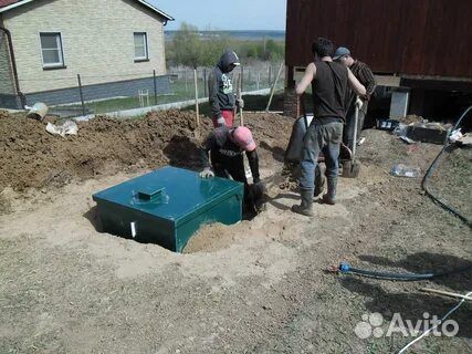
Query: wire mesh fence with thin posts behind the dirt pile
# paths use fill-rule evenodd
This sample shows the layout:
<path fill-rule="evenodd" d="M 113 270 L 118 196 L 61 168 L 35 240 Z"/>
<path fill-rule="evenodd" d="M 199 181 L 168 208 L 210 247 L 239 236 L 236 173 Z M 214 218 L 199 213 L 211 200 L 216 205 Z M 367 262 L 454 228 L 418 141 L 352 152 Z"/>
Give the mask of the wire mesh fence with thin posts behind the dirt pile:
<path fill-rule="evenodd" d="M 48 90 L 48 82 L 42 81 L 44 92 L 25 94 L 25 98 L 28 105 L 43 102 L 51 107 L 52 114 L 64 117 L 130 110 L 138 112 L 139 108 L 160 105 L 181 107 L 191 105 L 197 96 L 200 102 L 206 101 L 211 70 L 176 67 L 168 70 L 166 75 L 156 75 L 153 71 L 130 73 L 129 79 L 124 74 L 87 76 L 78 73 L 74 77 L 56 79 L 75 82 L 72 87 Z M 283 64 L 239 66 L 231 73 L 234 93 L 241 90 L 247 94 L 268 95 L 271 88 L 281 91 L 284 87 L 284 72 Z M 117 77 L 120 81 L 116 81 Z"/>

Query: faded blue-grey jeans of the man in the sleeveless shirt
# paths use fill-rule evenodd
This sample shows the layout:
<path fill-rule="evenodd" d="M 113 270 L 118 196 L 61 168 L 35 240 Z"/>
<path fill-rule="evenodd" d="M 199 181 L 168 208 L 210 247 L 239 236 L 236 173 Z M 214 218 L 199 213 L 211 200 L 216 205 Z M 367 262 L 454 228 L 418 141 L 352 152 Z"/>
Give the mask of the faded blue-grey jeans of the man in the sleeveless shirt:
<path fill-rule="evenodd" d="M 315 168 L 319 153 L 323 152 L 326 163 L 326 178 L 336 186 L 338 175 L 338 158 L 340 142 L 343 140 L 343 123 L 333 122 L 319 124 L 313 121 L 303 137 L 303 149 L 300 166 L 300 188 L 314 189 Z"/>

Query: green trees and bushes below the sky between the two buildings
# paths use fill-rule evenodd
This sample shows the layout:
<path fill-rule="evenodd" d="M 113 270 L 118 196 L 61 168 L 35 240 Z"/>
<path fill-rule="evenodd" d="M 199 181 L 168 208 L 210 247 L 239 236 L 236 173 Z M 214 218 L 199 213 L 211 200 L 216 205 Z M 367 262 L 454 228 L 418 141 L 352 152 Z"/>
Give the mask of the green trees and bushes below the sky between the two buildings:
<path fill-rule="evenodd" d="M 206 39 L 197 27 L 182 22 L 174 39 L 166 43 L 167 66 L 212 66 L 225 49 L 235 51 L 244 62 L 281 62 L 285 55 L 285 43 L 282 41 L 243 41 L 224 34 Z"/>

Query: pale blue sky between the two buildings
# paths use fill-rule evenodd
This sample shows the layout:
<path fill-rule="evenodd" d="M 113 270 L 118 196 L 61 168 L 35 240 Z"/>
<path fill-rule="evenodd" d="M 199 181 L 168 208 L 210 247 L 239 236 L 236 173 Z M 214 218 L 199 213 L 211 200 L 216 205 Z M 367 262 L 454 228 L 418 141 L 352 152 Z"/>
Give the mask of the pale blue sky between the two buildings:
<path fill-rule="evenodd" d="M 147 0 L 168 13 L 166 30 L 187 22 L 199 30 L 285 30 L 287 0 Z"/>

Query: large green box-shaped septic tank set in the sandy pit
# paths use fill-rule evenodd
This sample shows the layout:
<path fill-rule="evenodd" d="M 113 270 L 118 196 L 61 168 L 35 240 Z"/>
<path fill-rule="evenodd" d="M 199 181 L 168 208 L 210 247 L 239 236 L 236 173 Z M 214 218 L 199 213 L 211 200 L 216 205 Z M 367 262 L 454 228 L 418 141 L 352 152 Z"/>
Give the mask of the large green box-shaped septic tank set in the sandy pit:
<path fill-rule="evenodd" d="M 181 252 L 201 225 L 240 221 L 243 194 L 241 183 L 167 166 L 92 197 L 104 231 Z"/>

